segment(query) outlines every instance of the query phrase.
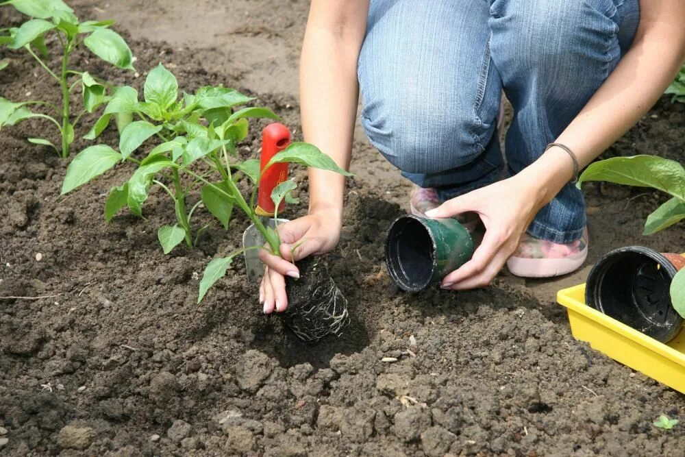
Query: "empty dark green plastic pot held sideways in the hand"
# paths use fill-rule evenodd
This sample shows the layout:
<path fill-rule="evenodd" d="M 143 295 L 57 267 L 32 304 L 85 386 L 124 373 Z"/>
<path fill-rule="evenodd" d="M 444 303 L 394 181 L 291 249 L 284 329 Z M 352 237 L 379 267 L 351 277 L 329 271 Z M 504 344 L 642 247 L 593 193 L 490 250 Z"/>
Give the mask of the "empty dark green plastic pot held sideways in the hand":
<path fill-rule="evenodd" d="M 407 292 L 423 291 L 473 256 L 473 240 L 454 219 L 397 218 L 386 238 L 390 279 Z"/>

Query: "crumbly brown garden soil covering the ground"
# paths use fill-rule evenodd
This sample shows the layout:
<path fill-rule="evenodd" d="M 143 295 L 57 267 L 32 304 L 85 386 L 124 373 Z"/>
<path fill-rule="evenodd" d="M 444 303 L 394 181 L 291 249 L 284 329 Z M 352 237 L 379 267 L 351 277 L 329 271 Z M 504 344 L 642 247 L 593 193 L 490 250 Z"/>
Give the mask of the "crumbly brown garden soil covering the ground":
<path fill-rule="evenodd" d="M 303 0 L 70 3 L 83 19 L 116 20 L 135 56 L 115 69 L 87 49 L 73 64 L 142 93 L 162 63 L 179 87 L 223 85 L 256 97 L 301 140 L 297 102 Z M 1 27 L 25 17 L 0 8 Z M 49 46 L 55 45 L 48 42 Z M 55 81 L 23 51 L 3 48 L 0 96 L 55 104 Z M 60 58 L 47 60 L 58 68 Z M 30 94 L 29 94 L 30 92 Z M 73 103 L 80 103 L 78 90 Z M 82 139 L 118 147 L 114 123 Z M 258 158 L 268 120 L 251 121 L 238 156 Z M 0 132 L 0 455 L 8 456 L 682 456 L 685 396 L 571 336 L 556 292 L 586 280 L 608 251 L 645 245 L 683 251 L 675 225 L 642 235 L 662 193 L 584 184 L 590 254 L 576 273 L 523 280 L 503 271 L 467 292 L 399 291 L 384 262 L 385 234 L 408 212 L 410 185 L 356 129 L 340 244 L 326 257 L 349 304 L 338 338 L 304 343 L 264 316 L 242 258 L 197 304 L 207 264 L 242 245 L 250 224 L 209 224 L 197 246 L 164 255 L 158 228 L 173 202 L 151 188 L 142 214 L 105 223 L 125 163 L 60 196 L 69 160 L 26 138 L 60 138 L 45 119 Z M 145 149 L 147 148 L 147 149 Z M 149 147 L 139 151 L 147 154 Z M 683 162 L 685 104 L 664 96 L 603 158 L 653 154 Z M 144 157 L 144 155 L 141 155 Z M 306 171 L 291 166 L 305 214 Z M 249 183 L 239 180 L 247 195 Z M 190 203 L 197 197 L 189 197 Z M 42 298 L 41 298 L 42 297 Z M 655 427 L 660 415 L 681 419 Z"/>

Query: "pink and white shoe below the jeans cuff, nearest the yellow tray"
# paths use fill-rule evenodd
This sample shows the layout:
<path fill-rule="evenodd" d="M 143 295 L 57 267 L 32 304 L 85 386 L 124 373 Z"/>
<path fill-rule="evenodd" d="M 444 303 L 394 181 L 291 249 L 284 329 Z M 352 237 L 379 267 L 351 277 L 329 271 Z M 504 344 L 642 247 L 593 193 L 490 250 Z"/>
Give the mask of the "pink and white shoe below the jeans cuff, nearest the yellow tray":
<path fill-rule="evenodd" d="M 588 257 L 588 229 L 580 240 L 552 243 L 524 234 L 519 248 L 507 260 L 512 275 L 520 277 L 553 277 L 573 273 Z"/>

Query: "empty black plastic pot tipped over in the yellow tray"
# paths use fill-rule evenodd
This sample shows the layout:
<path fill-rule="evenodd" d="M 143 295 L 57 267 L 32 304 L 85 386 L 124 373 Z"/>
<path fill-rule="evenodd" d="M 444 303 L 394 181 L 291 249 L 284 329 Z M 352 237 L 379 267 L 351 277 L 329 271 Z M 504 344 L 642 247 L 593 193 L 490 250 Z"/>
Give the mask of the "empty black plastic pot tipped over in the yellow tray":
<path fill-rule="evenodd" d="M 588 275 L 586 304 L 647 336 L 666 343 L 682 317 L 671 304 L 671 281 L 685 258 L 641 246 L 603 256 Z"/>

